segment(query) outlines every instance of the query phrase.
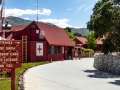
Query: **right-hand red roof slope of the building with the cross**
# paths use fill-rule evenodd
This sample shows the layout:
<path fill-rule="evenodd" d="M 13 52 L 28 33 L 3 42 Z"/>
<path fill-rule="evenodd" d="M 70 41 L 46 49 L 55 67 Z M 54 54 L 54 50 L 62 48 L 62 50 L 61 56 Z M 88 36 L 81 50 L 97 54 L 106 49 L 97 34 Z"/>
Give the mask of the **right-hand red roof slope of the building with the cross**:
<path fill-rule="evenodd" d="M 36 24 L 45 32 L 45 38 L 50 45 L 74 46 L 64 29 L 42 22 L 36 22 Z"/>

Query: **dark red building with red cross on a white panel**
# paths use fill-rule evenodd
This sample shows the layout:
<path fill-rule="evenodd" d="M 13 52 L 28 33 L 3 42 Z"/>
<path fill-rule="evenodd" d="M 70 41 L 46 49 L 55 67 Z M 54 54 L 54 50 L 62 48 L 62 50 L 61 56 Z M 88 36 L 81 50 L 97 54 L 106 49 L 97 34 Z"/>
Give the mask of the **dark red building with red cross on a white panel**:
<path fill-rule="evenodd" d="M 5 31 L 5 38 L 27 40 L 27 44 L 23 43 L 26 51 L 25 53 L 23 50 L 23 53 L 28 62 L 68 59 L 74 46 L 62 28 L 35 21 L 29 25 L 12 26 L 11 30 Z M 27 47 L 24 47 L 25 45 Z"/>

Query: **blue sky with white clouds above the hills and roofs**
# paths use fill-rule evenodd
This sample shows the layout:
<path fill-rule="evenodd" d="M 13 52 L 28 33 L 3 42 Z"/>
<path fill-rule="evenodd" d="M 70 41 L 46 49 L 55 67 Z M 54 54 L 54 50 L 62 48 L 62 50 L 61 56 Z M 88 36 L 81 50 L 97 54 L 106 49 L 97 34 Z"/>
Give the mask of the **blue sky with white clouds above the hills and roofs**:
<path fill-rule="evenodd" d="M 61 28 L 86 28 L 98 0 L 5 0 L 5 16 L 53 23 Z M 1 5 L 2 6 L 2 5 Z"/>

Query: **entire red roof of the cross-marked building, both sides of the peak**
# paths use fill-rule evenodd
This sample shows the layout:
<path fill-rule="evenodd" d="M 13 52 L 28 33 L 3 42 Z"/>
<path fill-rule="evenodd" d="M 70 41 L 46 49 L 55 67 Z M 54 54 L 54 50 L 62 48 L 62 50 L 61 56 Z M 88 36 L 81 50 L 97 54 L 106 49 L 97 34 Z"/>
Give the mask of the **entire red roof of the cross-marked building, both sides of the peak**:
<path fill-rule="evenodd" d="M 49 25 L 43 22 L 35 22 L 38 25 L 39 30 L 43 30 L 45 32 L 45 39 L 50 45 L 59 45 L 59 46 L 74 46 L 73 42 L 70 40 L 64 29 L 59 28 L 55 25 Z M 32 24 L 31 23 L 31 24 Z M 12 26 L 11 30 L 6 30 L 6 32 L 9 33 L 9 35 L 6 37 L 6 39 L 11 39 L 13 34 L 13 31 L 24 31 L 25 28 L 29 27 L 29 25 L 18 25 L 18 26 Z M 0 30 L 2 33 L 2 30 Z"/>

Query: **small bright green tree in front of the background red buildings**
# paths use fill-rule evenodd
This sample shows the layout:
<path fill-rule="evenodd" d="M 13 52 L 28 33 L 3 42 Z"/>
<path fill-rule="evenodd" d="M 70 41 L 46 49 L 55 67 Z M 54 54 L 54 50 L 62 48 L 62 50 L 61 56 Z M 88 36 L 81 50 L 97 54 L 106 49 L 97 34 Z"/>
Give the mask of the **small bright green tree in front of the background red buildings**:
<path fill-rule="evenodd" d="M 94 49 L 97 44 L 97 40 L 94 37 L 94 32 L 92 31 L 91 33 L 89 33 L 86 36 L 86 39 L 87 39 L 87 42 L 86 42 L 87 48 Z"/>

